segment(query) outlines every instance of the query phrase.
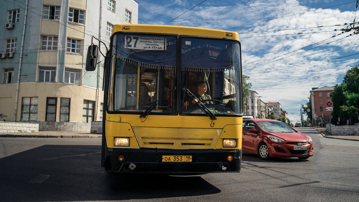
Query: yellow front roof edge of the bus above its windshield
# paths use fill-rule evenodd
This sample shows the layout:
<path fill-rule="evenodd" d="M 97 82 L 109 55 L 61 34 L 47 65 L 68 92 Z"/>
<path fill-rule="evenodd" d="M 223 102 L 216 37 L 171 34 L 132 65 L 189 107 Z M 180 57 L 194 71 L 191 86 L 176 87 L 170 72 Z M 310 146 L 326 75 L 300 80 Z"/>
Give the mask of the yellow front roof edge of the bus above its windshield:
<path fill-rule="evenodd" d="M 219 38 L 233 38 L 239 41 L 237 32 L 224 31 L 218 29 L 184 27 L 171 25 L 149 25 L 149 24 L 116 24 L 113 26 L 112 33 L 115 32 L 144 32 L 144 33 L 165 33 L 191 36 L 208 36 Z"/>

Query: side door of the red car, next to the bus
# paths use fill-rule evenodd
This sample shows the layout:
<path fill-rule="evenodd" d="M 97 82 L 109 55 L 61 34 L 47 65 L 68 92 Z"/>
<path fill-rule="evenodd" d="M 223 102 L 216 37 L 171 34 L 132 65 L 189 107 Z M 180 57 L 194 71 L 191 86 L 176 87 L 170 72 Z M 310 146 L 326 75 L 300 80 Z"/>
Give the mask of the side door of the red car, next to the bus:
<path fill-rule="evenodd" d="M 256 125 L 252 121 L 247 120 L 242 127 L 242 150 L 244 152 L 256 153 L 258 133 L 250 132 L 251 128 L 258 131 Z"/>

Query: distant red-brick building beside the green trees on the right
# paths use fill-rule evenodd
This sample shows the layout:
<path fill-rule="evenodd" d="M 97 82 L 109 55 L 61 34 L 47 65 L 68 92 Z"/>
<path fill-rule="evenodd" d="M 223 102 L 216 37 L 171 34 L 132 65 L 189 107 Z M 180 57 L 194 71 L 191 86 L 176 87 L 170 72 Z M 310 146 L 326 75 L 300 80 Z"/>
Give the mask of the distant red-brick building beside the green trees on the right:
<path fill-rule="evenodd" d="M 329 123 L 329 113 L 332 111 L 327 111 L 326 103 L 332 100 L 332 92 L 334 87 L 323 86 L 321 88 L 312 88 L 311 90 L 311 100 L 312 100 L 312 124 L 319 126 Z M 334 103 L 333 103 L 334 105 Z M 318 118 L 316 119 L 316 115 Z"/>

